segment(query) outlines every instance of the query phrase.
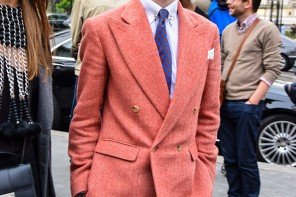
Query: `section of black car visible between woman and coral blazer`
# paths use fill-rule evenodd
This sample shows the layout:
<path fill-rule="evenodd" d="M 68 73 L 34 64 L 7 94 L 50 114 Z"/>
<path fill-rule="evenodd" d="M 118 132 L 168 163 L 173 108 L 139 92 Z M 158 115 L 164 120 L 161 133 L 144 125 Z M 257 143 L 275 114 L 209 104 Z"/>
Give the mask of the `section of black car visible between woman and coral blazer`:
<path fill-rule="evenodd" d="M 70 30 L 54 34 L 51 39 L 53 59 L 53 129 L 68 130 L 75 84 L 75 60 L 71 57 Z"/>

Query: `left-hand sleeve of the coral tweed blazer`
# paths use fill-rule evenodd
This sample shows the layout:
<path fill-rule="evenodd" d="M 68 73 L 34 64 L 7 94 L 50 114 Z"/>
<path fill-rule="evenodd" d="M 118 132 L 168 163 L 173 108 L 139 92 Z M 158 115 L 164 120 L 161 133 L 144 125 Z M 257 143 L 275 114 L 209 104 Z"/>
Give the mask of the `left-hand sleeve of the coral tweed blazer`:
<path fill-rule="evenodd" d="M 87 182 L 94 149 L 100 136 L 104 90 L 109 70 L 93 19 L 82 30 L 80 58 L 82 69 L 78 82 L 77 105 L 69 131 L 72 196 L 87 192 Z"/>

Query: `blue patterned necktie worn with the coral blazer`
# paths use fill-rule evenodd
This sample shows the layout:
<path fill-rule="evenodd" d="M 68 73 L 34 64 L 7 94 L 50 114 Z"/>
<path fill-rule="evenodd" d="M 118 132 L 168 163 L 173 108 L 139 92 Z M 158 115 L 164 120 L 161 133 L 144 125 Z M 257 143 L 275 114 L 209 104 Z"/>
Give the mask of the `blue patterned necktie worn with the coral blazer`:
<path fill-rule="evenodd" d="M 165 21 L 169 16 L 169 12 L 166 9 L 161 9 L 158 13 L 159 22 L 155 33 L 155 42 L 157 45 L 159 57 L 162 63 L 162 68 L 170 92 L 172 82 L 172 54 L 167 38 Z"/>

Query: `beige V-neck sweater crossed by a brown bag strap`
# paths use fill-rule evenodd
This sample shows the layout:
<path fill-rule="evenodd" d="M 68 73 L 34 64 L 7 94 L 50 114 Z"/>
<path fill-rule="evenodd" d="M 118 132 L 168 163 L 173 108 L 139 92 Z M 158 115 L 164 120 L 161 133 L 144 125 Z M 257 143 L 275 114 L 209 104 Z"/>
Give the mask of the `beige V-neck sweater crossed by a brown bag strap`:
<path fill-rule="evenodd" d="M 232 58 L 244 35 L 245 33 L 238 33 L 236 22 L 224 30 L 221 46 L 222 79 L 226 78 Z M 260 20 L 245 41 L 227 81 L 226 99 L 249 99 L 259 85 L 260 78 L 273 83 L 283 66 L 280 46 L 281 38 L 277 27 L 269 21 Z"/>

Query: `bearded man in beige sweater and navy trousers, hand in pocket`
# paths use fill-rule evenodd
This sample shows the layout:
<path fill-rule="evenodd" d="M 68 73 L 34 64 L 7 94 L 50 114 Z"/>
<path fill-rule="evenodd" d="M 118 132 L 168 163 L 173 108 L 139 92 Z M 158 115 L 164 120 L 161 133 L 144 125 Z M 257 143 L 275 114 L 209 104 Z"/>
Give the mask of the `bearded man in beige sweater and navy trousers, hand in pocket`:
<path fill-rule="evenodd" d="M 230 15 L 237 21 L 222 35 L 222 79 L 243 37 L 258 20 L 261 0 L 228 0 Z M 237 58 L 226 83 L 226 101 L 221 107 L 219 138 L 225 158 L 229 196 L 259 195 L 260 178 L 256 158 L 258 127 L 263 99 L 280 74 L 280 33 L 271 22 L 259 20 Z"/>

